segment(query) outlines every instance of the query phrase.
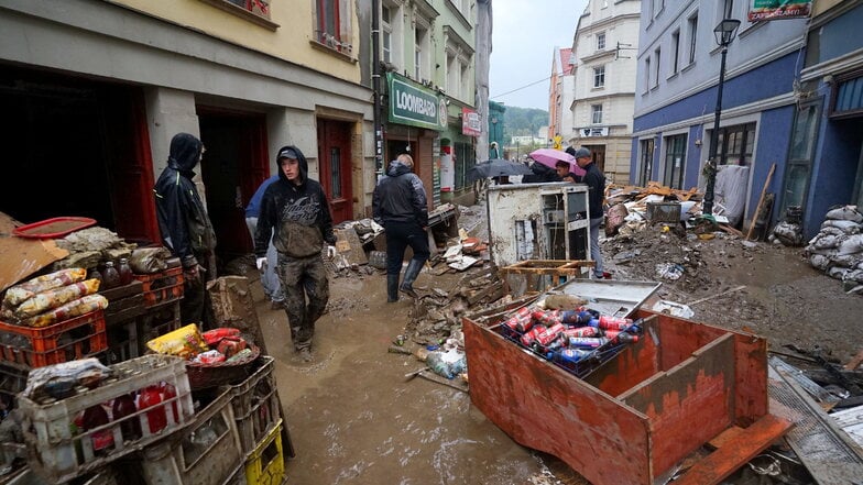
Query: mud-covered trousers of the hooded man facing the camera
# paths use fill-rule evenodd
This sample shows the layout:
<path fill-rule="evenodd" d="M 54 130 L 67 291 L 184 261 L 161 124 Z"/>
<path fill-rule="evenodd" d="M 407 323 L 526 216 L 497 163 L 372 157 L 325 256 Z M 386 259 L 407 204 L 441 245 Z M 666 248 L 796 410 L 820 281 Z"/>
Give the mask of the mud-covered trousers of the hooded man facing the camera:
<path fill-rule="evenodd" d="M 315 322 L 329 301 L 329 280 L 320 254 L 309 257 L 278 256 L 278 277 L 285 295 L 285 313 L 294 350 L 312 348 Z"/>

